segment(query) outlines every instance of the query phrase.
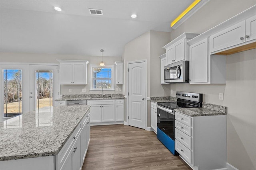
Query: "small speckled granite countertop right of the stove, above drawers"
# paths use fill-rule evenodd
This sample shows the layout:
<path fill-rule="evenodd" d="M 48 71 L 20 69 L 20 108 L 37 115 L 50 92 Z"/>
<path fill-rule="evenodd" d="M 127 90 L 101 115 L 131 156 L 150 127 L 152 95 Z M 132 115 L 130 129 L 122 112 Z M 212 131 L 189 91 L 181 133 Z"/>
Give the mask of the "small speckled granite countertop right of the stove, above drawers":
<path fill-rule="evenodd" d="M 175 111 L 182 113 L 184 115 L 188 115 L 191 117 L 195 116 L 213 116 L 213 115 L 226 115 L 226 113 L 210 110 L 202 107 L 197 108 L 180 108 L 180 109 L 174 109 Z"/>

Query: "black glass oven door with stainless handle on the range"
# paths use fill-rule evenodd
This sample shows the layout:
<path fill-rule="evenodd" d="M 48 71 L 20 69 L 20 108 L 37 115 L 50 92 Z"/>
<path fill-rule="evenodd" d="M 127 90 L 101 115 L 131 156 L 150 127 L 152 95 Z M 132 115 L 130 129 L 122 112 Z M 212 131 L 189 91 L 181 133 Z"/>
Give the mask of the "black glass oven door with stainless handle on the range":
<path fill-rule="evenodd" d="M 157 105 L 157 127 L 175 141 L 174 111 Z"/>

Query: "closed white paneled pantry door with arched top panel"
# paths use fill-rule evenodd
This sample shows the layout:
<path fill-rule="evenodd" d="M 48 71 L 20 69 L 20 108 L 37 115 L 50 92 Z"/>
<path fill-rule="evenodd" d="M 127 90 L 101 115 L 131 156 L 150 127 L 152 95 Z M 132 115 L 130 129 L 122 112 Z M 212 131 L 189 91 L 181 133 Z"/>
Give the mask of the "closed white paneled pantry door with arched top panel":
<path fill-rule="evenodd" d="M 146 62 L 128 64 L 128 125 L 146 128 Z"/>

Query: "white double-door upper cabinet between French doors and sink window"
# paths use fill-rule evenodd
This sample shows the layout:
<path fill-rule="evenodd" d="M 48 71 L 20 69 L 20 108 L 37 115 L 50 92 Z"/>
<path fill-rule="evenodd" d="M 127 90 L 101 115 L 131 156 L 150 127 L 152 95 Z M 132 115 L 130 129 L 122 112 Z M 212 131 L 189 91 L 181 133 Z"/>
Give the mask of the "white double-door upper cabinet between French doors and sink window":
<path fill-rule="evenodd" d="M 58 60 L 60 84 L 87 84 L 88 61 Z"/>

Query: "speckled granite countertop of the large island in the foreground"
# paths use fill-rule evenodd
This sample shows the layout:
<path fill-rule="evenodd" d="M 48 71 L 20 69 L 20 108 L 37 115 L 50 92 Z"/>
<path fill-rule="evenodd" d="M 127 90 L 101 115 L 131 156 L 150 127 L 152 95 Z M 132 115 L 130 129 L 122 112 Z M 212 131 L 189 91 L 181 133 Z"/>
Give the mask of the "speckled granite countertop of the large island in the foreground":
<path fill-rule="evenodd" d="M 89 108 L 44 107 L 0 122 L 0 161 L 58 154 Z"/>

